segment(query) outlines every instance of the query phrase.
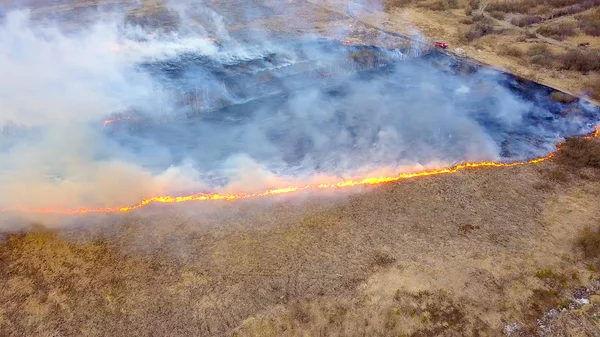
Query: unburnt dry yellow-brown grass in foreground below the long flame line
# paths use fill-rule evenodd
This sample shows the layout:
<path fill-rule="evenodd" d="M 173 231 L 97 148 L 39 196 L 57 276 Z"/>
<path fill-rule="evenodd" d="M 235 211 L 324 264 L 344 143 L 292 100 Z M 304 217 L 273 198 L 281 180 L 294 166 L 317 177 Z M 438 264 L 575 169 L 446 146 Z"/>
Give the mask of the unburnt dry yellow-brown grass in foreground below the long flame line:
<path fill-rule="evenodd" d="M 511 322 L 531 328 L 589 282 L 574 240 L 600 218 L 598 169 L 574 167 L 556 181 L 547 175 L 556 165 L 10 234 L 0 246 L 0 334 L 475 336 Z"/>

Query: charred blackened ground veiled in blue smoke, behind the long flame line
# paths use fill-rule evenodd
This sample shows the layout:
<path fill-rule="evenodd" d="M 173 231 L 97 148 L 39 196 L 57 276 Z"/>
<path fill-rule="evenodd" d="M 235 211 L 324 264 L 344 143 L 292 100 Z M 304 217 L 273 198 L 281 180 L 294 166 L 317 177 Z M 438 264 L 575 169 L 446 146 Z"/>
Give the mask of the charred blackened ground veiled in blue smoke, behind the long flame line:
<path fill-rule="evenodd" d="M 271 172 L 327 174 L 432 161 L 521 160 L 590 132 L 597 107 L 557 102 L 552 89 L 438 51 L 328 40 L 186 53 L 146 62 L 169 117 L 133 107 L 108 132 L 139 151 L 167 149 L 211 178 L 244 154 Z M 219 180 L 219 179 L 217 179 Z"/>

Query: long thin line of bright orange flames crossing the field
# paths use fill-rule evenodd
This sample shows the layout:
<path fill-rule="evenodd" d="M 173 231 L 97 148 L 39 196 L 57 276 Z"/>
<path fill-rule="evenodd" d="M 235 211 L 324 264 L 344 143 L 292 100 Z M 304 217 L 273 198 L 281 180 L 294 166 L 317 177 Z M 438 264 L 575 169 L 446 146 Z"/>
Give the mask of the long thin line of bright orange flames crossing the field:
<path fill-rule="evenodd" d="M 600 126 L 596 126 L 595 131 L 586 136 L 586 139 L 598 138 L 600 136 Z M 560 144 L 559 144 L 560 145 Z M 0 209 L 0 212 L 9 212 L 9 211 L 20 211 L 27 213 L 38 213 L 38 214 L 87 214 L 87 213 L 125 213 L 129 211 L 133 211 L 138 208 L 142 208 L 149 204 L 172 204 L 172 203 L 181 203 L 181 202 L 190 202 L 190 201 L 216 201 L 216 200 L 224 200 L 224 201 L 232 201 L 232 200 L 243 200 L 243 199 L 251 199 L 258 197 L 267 197 L 273 195 L 282 195 L 282 194 L 290 194 L 299 191 L 305 190 L 334 190 L 334 189 L 342 189 L 349 188 L 354 186 L 367 186 L 367 185 L 378 185 L 383 183 L 395 182 L 403 179 L 417 178 L 417 177 L 425 177 L 425 176 L 433 176 L 440 174 L 450 174 L 455 173 L 461 170 L 467 169 L 475 169 L 475 168 L 483 168 L 483 167 L 514 167 L 521 166 L 525 164 L 537 164 L 543 161 L 546 161 L 550 158 L 556 156 L 556 153 L 560 150 L 558 147 L 557 151 L 550 153 L 549 155 L 541 158 L 532 159 L 529 161 L 517 161 L 512 163 L 498 163 L 498 162 L 479 162 L 479 163 L 463 163 L 458 164 L 452 167 L 443 168 L 439 170 L 428 170 L 421 171 L 415 173 L 402 173 L 397 176 L 392 177 L 372 177 L 365 178 L 362 180 L 346 180 L 338 183 L 331 184 L 320 184 L 320 185 L 302 185 L 302 186 L 289 186 L 283 188 L 270 189 L 263 192 L 256 193 L 228 193 L 228 194 L 219 194 L 219 193 L 197 193 L 187 196 L 157 196 L 151 197 L 142 200 L 137 205 L 132 206 L 124 206 L 124 207 L 103 207 L 103 208 L 76 208 L 76 209 L 56 209 L 56 208 L 29 208 L 25 206 L 12 206 L 5 209 Z"/>

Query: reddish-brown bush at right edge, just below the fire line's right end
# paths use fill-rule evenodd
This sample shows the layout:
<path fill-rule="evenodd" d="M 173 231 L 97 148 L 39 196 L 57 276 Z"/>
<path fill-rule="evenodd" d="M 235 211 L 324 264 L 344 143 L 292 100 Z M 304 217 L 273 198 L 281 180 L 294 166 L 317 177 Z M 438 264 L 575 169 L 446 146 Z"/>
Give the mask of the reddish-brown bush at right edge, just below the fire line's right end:
<path fill-rule="evenodd" d="M 567 138 L 560 146 L 557 161 L 572 167 L 600 167 L 600 139 Z"/>

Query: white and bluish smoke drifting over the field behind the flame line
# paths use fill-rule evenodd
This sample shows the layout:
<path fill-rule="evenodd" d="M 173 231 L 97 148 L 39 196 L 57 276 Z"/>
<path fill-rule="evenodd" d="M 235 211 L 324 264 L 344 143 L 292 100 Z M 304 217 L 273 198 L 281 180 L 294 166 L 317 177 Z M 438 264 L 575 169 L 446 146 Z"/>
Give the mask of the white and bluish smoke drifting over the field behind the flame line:
<path fill-rule="evenodd" d="M 203 10 L 210 27 L 100 22 L 69 35 L 8 13 L 0 208 L 118 206 L 531 158 L 595 118 L 576 104 L 554 115 L 563 107 L 518 95 L 495 72 L 457 76 L 400 51 L 315 36 L 238 41 L 221 14 Z"/>

